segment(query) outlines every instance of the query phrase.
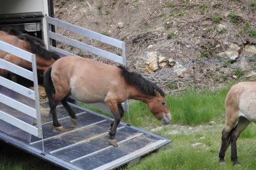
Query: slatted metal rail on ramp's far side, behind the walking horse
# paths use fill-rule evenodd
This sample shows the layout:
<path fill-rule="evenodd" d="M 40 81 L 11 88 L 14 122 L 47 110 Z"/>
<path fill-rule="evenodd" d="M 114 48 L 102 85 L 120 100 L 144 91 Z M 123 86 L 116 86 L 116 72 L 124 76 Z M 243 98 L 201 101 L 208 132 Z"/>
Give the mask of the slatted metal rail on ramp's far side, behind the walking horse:
<path fill-rule="evenodd" d="M 47 44 L 49 46 L 49 49 L 53 49 L 54 51 L 58 51 L 65 55 L 75 55 L 71 54 L 70 52 L 63 51 L 61 49 L 58 49 L 56 47 L 51 46 L 50 39 L 55 39 L 60 42 L 64 42 L 65 44 L 68 44 L 73 47 L 77 47 L 78 49 L 82 49 L 83 51 L 90 52 L 91 54 L 98 55 L 100 57 L 103 57 L 105 59 L 109 59 L 113 62 L 117 62 L 121 65 L 126 66 L 126 44 L 123 41 L 119 41 L 118 39 L 111 38 L 109 36 L 105 36 L 100 33 L 95 33 L 93 31 L 87 30 L 85 28 L 82 28 L 80 26 L 75 26 L 67 22 L 63 22 L 61 20 L 58 20 L 56 18 L 48 17 L 46 16 L 46 23 L 47 23 L 47 31 L 48 31 L 48 39 Z M 58 26 L 59 28 L 63 28 L 65 30 L 72 31 L 74 33 L 80 34 L 82 36 L 87 36 L 88 38 L 95 39 L 100 42 L 104 42 L 105 44 L 109 44 L 111 46 L 117 47 L 122 50 L 122 55 L 116 55 L 111 52 L 99 49 L 97 47 L 90 46 L 88 44 L 85 44 L 83 42 L 77 41 L 75 39 L 68 38 L 66 36 L 63 36 L 58 33 L 54 33 L 49 28 L 50 25 Z M 105 111 L 106 113 L 110 113 L 108 106 L 105 105 L 105 103 L 93 103 L 90 104 L 92 107 L 97 108 L 99 110 Z M 124 108 L 124 111 L 129 111 L 128 102 L 122 103 L 122 107 Z"/>

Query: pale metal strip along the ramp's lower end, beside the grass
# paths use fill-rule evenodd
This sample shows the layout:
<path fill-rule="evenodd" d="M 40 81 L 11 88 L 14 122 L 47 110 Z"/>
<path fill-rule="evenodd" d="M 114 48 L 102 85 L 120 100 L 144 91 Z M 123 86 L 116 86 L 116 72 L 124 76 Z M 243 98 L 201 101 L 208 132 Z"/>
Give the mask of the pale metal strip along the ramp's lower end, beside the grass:
<path fill-rule="evenodd" d="M 135 158 L 138 158 L 139 156 L 143 156 L 147 154 L 148 152 L 151 152 L 158 148 L 160 145 L 163 145 L 165 141 L 158 140 L 157 142 L 147 145 L 146 147 L 140 148 L 139 150 L 136 150 L 135 152 L 132 152 L 126 156 L 123 156 L 117 160 L 114 160 L 110 163 L 104 164 L 103 166 L 100 166 L 98 168 L 95 168 L 94 170 L 102 170 L 102 169 L 113 169 L 117 166 L 121 166 L 124 163 L 127 163 L 129 161 L 134 160 Z"/>

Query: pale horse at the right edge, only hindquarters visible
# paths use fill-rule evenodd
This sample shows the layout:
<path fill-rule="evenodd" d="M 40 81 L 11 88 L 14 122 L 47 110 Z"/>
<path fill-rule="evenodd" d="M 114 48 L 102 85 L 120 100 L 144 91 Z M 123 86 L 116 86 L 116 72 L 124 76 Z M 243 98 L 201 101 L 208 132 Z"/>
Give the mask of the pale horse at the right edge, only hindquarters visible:
<path fill-rule="evenodd" d="M 256 82 L 235 84 L 225 100 L 226 123 L 222 131 L 222 143 L 219 153 L 220 162 L 224 162 L 225 152 L 231 143 L 231 161 L 237 161 L 236 140 L 250 121 L 256 123 Z"/>

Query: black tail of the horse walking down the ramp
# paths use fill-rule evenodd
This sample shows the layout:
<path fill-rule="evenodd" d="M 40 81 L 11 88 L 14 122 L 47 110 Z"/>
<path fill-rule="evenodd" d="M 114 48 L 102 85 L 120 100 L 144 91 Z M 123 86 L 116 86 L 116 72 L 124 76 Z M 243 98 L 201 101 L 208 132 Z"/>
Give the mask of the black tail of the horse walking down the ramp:
<path fill-rule="evenodd" d="M 51 103 L 53 102 L 53 95 L 55 94 L 53 80 L 51 79 L 51 67 L 49 67 L 45 72 L 45 76 L 43 78 L 43 87 L 45 87 L 45 92 L 51 106 Z"/>

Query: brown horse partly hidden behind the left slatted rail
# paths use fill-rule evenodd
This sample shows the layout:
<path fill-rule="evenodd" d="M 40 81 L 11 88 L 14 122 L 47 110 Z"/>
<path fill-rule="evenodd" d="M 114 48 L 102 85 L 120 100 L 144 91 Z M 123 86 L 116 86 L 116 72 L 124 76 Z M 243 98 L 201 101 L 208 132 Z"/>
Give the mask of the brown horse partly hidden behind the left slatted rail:
<path fill-rule="evenodd" d="M 36 56 L 36 67 L 39 71 L 44 72 L 47 68 L 52 65 L 54 60 L 59 59 L 59 55 L 55 52 L 46 50 L 45 43 L 33 36 L 23 34 L 14 28 L 0 31 L 0 41 L 11 44 L 12 46 L 19 47 L 24 51 L 31 52 Z M 26 60 L 20 59 L 19 57 L 9 54 L 5 51 L 0 51 L 0 59 L 19 65 L 26 69 L 32 69 L 32 64 Z M 7 76 L 8 71 L 0 68 L 0 75 Z M 9 73 L 12 81 L 16 81 L 16 76 Z"/>

